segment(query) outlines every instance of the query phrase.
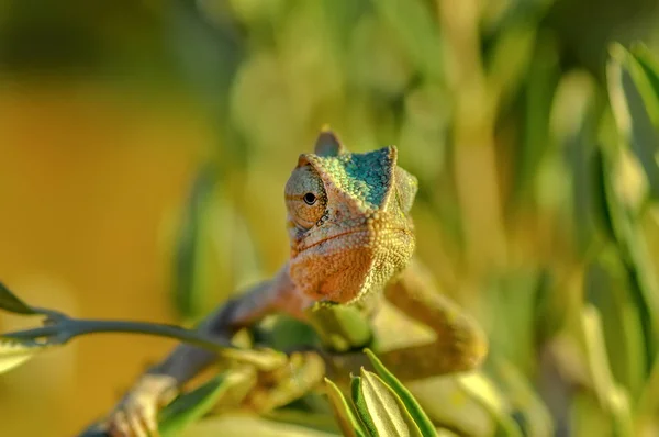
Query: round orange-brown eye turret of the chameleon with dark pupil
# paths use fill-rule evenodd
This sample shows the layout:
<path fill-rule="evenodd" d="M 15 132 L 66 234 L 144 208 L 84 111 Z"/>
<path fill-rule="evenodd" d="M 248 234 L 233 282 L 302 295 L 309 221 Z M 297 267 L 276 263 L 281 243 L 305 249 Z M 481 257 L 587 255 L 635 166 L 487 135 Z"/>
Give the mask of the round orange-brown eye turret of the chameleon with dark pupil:
<path fill-rule="evenodd" d="M 298 167 L 286 184 L 286 206 L 290 220 L 309 229 L 325 214 L 327 195 L 323 179 L 311 166 Z"/>

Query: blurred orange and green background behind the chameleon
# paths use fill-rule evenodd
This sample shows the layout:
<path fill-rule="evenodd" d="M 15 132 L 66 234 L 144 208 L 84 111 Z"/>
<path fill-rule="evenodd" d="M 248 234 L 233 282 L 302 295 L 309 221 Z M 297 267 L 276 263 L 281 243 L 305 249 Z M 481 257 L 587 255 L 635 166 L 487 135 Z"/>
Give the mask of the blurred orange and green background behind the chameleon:
<path fill-rule="evenodd" d="M 657 290 L 659 183 L 652 149 L 599 164 L 617 143 L 607 51 L 659 55 L 658 19 L 654 0 L 1 0 L 0 278 L 76 316 L 190 324 L 286 260 L 283 184 L 330 123 L 354 150 L 399 146 L 420 256 L 557 433 L 611 435 L 600 361 L 640 421 L 659 404 L 657 306 L 638 298 Z M 74 435 L 171 346 L 99 336 L 35 358 L 0 377 L 0 434 Z"/>

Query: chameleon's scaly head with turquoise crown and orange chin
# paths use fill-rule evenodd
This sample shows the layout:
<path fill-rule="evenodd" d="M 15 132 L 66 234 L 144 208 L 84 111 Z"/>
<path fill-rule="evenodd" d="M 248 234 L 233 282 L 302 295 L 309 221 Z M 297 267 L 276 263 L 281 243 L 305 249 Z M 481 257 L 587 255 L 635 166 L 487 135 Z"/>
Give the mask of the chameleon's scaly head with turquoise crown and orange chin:
<path fill-rule="evenodd" d="M 355 303 L 407 266 L 417 181 L 396 166 L 394 146 L 353 154 L 325 130 L 314 152 L 286 186 L 290 277 L 316 301 Z"/>

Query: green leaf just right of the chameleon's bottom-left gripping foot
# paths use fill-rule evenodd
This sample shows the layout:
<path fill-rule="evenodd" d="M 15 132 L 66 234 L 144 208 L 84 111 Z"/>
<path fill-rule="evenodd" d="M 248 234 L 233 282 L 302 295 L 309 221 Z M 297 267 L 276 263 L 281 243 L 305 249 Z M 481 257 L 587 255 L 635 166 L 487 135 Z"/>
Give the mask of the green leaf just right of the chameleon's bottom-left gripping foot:
<path fill-rule="evenodd" d="M 223 372 L 199 389 L 177 397 L 158 416 L 160 434 L 163 437 L 178 435 L 209 413 L 230 389 L 245 382 L 248 382 L 245 374 Z"/>

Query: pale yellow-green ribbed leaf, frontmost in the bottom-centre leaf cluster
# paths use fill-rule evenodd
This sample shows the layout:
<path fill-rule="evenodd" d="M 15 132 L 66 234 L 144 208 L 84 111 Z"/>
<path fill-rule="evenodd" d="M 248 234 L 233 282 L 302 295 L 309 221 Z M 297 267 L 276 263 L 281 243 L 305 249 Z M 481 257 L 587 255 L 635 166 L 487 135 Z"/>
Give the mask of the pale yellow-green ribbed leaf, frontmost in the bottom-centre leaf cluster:
<path fill-rule="evenodd" d="M 422 435 L 396 394 L 380 377 L 364 368 L 361 368 L 361 392 L 368 413 L 379 435 Z"/>

